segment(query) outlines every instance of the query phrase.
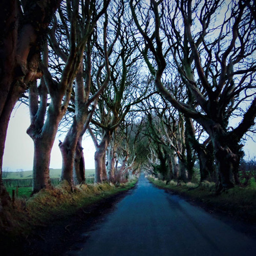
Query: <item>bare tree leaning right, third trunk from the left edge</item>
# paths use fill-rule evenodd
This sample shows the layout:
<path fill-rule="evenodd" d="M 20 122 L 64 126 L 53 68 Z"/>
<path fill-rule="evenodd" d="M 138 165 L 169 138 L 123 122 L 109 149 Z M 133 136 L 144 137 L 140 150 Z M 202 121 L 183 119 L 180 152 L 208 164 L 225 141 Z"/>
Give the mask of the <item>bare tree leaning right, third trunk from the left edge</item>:
<path fill-rule="evenodd" d="M 87 126 L 95 110 L 98 97 L 108 84 L 110 78 L 108 55 L 110 54 L 112 47 L 110 46 L 108 51 L 106 41 L 106 28 L 108 25 L 108 15 L 106 14 L 106 9 L 108 8 L 109 3 L 110 1 L 104 1 L 100 10 L 100 6 L 97 6 L 95 1 L 88 3 L 82 2 L 81 9 L 83 11 L 79 15 L 77 21 L 79 24 L 78 26 L 80 32 L 78 33 L 78 37 L 83 38 L 84 35 L 88 35 L 88 39 L 85 53 L 83 55 L 84 63 L 81 61 L 79 71 L 76 76 L 73 96 L 73 102 L 75 106 L 73 121 L 63 143 L 59 143 L 60 151 L 62 154 L 61 179 L 67 180 L 71 186 L 73 186 L 73 175 L 75 177 L 76 184 L 84 181 L 84 163 L 81 147 L 82 136 L 87 130 Z M 101 22 L 104 23 L 103 35 L 101 38 L 103 41 L 103 64 L 100 65 L 97 76 L 100 76 L 101 70 L 105 67 L 106 77 L 101 86 L 98 87 L 98 90 L 95 92 L 95 94 L 90 97 L 92 75 L 91 54 L 95 40 L 93 38 L 93 29 L 96 26 L 97 21 L 104 13 L 105 20 L 101 20 Z M 96 80 L 98 80 L 98 78 L 96 78 Z M 89 106 L 92 102 L 94 103 L 91 110 L 89 111 Z"/>

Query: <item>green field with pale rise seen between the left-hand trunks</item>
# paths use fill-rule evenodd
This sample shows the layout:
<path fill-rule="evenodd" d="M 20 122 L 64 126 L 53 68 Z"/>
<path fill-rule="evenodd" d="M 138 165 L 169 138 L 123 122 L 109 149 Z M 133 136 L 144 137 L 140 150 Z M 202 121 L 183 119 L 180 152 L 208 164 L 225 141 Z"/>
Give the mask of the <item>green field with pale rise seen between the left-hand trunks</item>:
<path fill-rule="evenodd" d="M 59 184 L 61 169 L 50 169 L 50 178 L 52 185 Z M 86 170 L 86 183 L 94 183 L 95 170 Z M 23 172 L 3 172 L 3 182 L 8 193 L 12 196 L 12 190 L 15 190 L 16 197 L 29 197 L 32 192 L 32 170 Z"/>

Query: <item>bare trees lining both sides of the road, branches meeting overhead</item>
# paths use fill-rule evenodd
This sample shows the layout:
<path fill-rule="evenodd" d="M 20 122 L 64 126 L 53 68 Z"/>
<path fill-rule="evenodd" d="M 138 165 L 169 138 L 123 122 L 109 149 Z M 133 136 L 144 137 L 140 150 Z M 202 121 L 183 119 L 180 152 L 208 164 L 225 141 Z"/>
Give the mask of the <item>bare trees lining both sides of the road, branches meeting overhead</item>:
<path fill-rule="evenodd" d="M 84 182 L 81 141 L 94 141 L 95 182 L 141 169 L 217 190 L 240 184 L 256 115 L 255 3 L 191 0 L 3 0 L 0 3 L 0 196 L 15 103 L 29 104 L 33 193 L 50 188 L 59 127 L 61 180 Z M 240 118 L 239 122 L 235 121 Z"/>

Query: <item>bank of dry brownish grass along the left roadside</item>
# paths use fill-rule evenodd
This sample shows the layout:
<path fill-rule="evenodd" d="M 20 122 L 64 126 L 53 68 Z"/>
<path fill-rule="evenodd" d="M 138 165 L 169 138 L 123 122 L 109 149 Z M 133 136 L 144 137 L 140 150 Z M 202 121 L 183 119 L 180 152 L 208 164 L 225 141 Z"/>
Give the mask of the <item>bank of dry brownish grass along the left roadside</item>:
<path fill-rule="evenodd" d="M 0 211 L 0 241 L 8 244 L 25 239 L 38 226 L 69 218 L 79 209 L 128 190 L 137 180 L 115 186 L 113 184 L 77 186 L 73 193 L 62 183 L 54 189 L 42 189 L 29 199 L 18 199 L 13 206 Z"/>

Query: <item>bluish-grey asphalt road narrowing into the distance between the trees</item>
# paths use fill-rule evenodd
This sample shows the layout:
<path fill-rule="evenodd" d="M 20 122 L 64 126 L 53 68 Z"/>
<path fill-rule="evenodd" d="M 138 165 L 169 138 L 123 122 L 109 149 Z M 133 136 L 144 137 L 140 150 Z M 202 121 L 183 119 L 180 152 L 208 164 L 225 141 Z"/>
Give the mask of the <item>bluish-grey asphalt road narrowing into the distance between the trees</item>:
<path fill-rule="evenodd" d="M 66 255 L 256 255 L 256 241 L 203 209 L 154 187 L 137 187 Z"/>

